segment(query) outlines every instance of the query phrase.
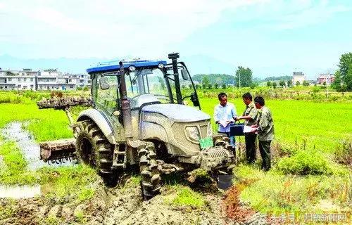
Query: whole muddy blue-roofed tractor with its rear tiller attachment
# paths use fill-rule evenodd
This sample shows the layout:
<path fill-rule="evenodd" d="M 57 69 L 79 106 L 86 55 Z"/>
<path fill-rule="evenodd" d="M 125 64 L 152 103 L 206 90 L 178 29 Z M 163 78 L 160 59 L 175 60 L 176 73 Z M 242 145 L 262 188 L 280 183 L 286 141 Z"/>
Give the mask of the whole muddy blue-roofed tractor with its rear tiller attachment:
<path fill-rule="evenodd" d="M 73 122 L 68 109 L 74 103 L 49 102 L 68 113 L 75 139 L 65 143 L 66 153 L 41 144 L 42 159 L 73 155 L 95 168 L 105 181 L 137 165 L 144 199 L 160 193 L 163 173 L 203 168 L 213 176 L 231 174 L 230 139 L 213 134 L 210 116 L 201 111 L 194 82 L 185 63 L 177 62 L 179 57 L 170 53 L 171 63 L 120 60 L 87 69 L 92 108 L 83 110 Z M 189 96 L 182 96 L 182 82 L 191 84 Z M 192 105 L 186 103 L 187 98 Z"/>

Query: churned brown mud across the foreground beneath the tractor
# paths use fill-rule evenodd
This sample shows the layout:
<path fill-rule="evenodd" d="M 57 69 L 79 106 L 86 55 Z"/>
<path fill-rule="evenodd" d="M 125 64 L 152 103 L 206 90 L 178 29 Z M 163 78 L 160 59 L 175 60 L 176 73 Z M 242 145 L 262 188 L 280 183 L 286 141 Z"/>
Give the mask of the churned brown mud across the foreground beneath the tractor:
<path fill-rule="evenodd" d="M 230 204 L 246 215 L 237 221 L 230 219 L 220 192 L 201 192 L 206 205 L 197 209 L 170 204 L 176 192 L 167 186 L 162 186 L 161 195 L 143 201 L 139 184 L 130 179 L 115 188 L 106 188 L 102 181 L 93 185 L 96 195 L 85 203 L 44 196 L 0 198 L 0 210 L 8 211 L 0 217 L 0 224 L 268 224 L 263 215 L 239 210 L 237 202 Z"/>

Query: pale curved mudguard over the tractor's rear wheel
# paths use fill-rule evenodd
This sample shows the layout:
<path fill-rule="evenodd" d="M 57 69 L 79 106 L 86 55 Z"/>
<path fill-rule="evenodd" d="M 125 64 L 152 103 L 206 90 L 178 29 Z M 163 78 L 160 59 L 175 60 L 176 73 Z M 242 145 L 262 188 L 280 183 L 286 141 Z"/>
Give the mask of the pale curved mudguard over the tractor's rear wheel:
<path fill-rule="evenodd" d="M 98 110 L 94 108 L 89 108 L 87 110 L 83 110 L 80 115 L 78 115 L 77 122 L 82 120 L 91 119 L 95 122 L 95 124 L 101 129 L 106 139 L 112 144 L 117 144 L 115 136 L 113 135 L 113 129 L 111 129 L 110 125 L 106 121 L 105 117 Z"/>

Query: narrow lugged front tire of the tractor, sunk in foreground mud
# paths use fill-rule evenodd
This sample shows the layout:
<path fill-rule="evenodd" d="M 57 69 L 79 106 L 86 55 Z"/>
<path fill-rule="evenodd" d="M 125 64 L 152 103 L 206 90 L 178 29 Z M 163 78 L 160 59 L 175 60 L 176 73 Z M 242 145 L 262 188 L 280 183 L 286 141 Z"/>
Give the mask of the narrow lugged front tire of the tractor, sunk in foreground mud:
<path fill-rule="evenodd" d="M 149 200 L 160 193 L 161 176 L 156 162 L 154 144 L 147 142 L 144 148 L 138 151 L 139 170 L 142 175 L 141 188 L 144 200 Z"/>

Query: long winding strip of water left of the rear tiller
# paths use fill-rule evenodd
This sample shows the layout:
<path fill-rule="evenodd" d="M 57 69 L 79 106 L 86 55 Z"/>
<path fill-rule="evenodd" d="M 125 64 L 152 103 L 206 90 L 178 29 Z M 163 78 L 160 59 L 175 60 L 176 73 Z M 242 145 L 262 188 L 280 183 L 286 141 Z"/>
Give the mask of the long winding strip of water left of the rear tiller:
<path fill-rule="evenodd" d="M 10 124 L 6 125 L 4 129 L 2 129 L 1 133 L 6 139 L 15 141 L 18 148 L 23 150 L 25 160 L 28 162 L 28 169 L 35 170 L 48 165 L 47 163 L 39 160 L 39 144 L 35 142 L 34 137 L 32 136 L 32 134 L 30 134 L 30 132 L 22 129 L 22 124 L 20 122 L 11 122 Z M 67 166 L 73 165 L 73 162 L 65 162 L 60 165 L 54 165 Z"/>

